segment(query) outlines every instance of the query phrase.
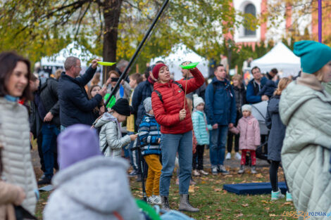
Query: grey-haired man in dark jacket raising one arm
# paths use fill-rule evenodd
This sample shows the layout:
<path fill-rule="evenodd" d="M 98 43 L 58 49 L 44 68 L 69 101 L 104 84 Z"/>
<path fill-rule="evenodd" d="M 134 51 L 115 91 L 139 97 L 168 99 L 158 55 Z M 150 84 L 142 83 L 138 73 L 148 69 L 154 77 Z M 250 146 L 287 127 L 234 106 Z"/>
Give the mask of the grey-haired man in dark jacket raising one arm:
<path fill-rule="evenodd" d="M 85 85 L 96 72 L 99 59 L 92 60 L 84 75 L 80 76 L 80 59 L 74 56 L 66 58 L 65 72 L 58 81 L 58 100 L 60 102 L 61 131 L 73 124 L 92 125 L 94 122 L 93 110 L 102 102 L 106 88 L 102 88 L 94 98 L 89 100 Z"/>

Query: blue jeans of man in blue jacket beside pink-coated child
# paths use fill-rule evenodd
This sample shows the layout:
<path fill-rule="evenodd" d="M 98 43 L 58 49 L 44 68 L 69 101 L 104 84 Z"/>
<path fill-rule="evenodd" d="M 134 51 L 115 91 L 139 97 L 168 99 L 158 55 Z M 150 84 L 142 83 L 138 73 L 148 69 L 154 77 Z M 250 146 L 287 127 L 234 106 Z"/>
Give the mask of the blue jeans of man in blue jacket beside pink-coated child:
<path fill-rule="evenodd" d="M 211 167 L 223 165 L 225 159 L 227 129 L 227 125 L 218 125 L 218 129 L 211 130 L 211 143 L 209 145 Z"/>

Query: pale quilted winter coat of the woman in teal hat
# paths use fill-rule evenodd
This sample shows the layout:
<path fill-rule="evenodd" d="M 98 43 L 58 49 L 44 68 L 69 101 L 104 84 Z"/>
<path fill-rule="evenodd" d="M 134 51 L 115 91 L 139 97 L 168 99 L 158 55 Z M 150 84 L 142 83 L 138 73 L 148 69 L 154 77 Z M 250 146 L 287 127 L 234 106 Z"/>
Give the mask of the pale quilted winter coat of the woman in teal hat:
<path fill-rule="evenodd" d="M 316 77 L 301 76 L 280 98 L 280 117 L 287 126 L 282 165 L 297 210 L 331 212 L 331 96 Z"/>

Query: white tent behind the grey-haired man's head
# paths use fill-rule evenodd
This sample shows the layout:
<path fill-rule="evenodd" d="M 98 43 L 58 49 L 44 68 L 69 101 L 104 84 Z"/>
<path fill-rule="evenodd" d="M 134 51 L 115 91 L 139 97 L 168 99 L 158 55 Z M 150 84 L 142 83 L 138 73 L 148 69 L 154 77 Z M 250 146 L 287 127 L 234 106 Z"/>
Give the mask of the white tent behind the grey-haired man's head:
<path fill-rule="evenodd" d="M 92 58 L 96 58 L 92 53 L 87 51 L 87 49 L 83 46 L 77 44 L 77 42 L 73 42 L 68 44 L 66 48 L 63 48 L 58 53 L 44 57 L 40 61 L 40 65 L 42 66 L 52 66 L 52 67 L 63 67 L 65 58 L 68 56 L 76 56 L 80 58 L 82 67 L 87 67 L 87 60 L 91 60 Z"/>

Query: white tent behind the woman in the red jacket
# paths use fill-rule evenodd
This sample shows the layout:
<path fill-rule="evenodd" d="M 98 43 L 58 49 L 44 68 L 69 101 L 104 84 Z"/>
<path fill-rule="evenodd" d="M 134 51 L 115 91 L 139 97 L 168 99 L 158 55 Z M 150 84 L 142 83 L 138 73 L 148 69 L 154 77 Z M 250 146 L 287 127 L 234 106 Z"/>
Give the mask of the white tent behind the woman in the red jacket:
<path fill-rule="evenodd" d="M 191 61 L 192 63 L 200 62 L 197 65 L 198 69 L 201 71 L 204 77 L 208 77 L 208 60 L 194 53 L 191 49 L 187 48 L 185 44 L 178 44 L 172 48 L 172 52 L 167 57 L 158 57 L 151 60 L 151 65 L 156 61 L 163 60 L 163 62 L 168 65 L 170 73 L 174 74 L 174 79 L 182 79 L 182 68 L 180 64 L 184 61 Z"/>

